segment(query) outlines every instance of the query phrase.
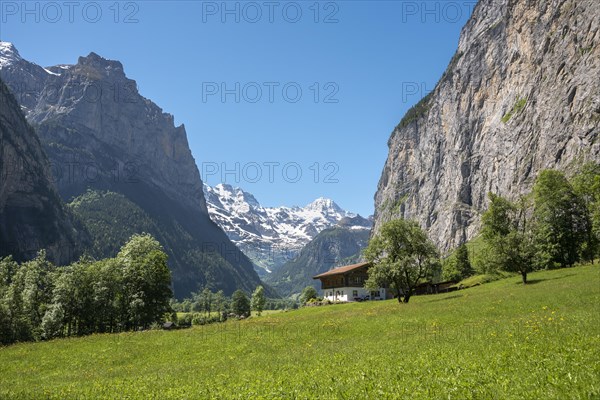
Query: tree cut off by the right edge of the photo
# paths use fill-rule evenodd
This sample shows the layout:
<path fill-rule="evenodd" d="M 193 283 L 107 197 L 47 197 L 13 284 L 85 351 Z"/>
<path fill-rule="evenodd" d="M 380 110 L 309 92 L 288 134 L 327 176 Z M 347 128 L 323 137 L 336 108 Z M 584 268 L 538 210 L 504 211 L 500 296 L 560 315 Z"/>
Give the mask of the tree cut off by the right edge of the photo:
<path fill-rule="evenodd" d="M 573 177 L 572 185 L 590 218 L 581 256 L 593 263 L 594 258 L 600 255 L 600 164 L 590 162 L 583 165 Z"/>

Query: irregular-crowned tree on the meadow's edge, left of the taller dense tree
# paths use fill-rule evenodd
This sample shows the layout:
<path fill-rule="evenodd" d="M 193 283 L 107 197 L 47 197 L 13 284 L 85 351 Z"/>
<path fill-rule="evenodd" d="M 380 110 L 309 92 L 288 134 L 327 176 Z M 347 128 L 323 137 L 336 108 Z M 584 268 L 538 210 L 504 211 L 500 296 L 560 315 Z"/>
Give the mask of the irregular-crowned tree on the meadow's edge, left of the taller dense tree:
<path fill-rule="evenodd" d="M 498 269 L 521 274 L 523 284 L 533 270 L 533 236 L 527 224 L 527 200 L 518 204 L 488 193 L 490 205 L 482 216 L 482 235 L 492 249 L 493 262 Z"/>

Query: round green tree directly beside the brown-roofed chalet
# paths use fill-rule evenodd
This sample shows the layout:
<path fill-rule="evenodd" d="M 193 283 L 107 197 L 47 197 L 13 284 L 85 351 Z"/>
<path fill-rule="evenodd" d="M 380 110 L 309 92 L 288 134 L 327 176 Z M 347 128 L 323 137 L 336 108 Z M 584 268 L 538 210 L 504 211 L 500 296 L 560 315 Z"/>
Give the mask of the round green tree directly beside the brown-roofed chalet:
<path fill-rule="evenodd" d="M 398 301 L 408 303 L 422 279 L 439 267 L 439 253 L 427 234 L 414 221 L 386 222 L 369 241 L 365 257 L 373 266 L 365 287 L 376 289 L 390 284 Z"/>

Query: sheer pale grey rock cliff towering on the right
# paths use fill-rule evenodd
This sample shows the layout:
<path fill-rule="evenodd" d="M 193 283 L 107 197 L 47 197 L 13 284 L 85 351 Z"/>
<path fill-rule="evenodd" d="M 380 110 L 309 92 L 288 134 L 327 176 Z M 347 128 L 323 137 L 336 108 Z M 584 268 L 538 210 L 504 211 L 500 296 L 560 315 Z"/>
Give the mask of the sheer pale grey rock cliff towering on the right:
<path fill-rule="evenodd" d="M 430 95 L 393 131 L 375 230 L 414 218 L 443 249 L 475 236 L 487 193 L 600 161 L 600 2 L 481 0 Z"/>

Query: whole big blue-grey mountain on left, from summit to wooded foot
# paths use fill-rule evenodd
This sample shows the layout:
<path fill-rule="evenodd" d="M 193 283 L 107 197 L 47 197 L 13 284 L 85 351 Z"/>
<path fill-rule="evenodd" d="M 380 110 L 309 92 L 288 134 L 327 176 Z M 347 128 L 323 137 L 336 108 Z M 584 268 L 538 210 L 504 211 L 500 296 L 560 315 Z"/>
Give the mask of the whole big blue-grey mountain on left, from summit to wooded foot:
<path fill-rule="evenodd" d="M 179 298 L 206 286 L 231 294 L 261 283 L 208 216 L 184 126 L 141 96 L 120 62 L 91 53 L 42 68 L 0 42 L 0 76 L 36 128 L 60 195 L 76 197 L 96 257 L 114 256 L 123 244 L 114 238 L 150 230 L 169 255 Z M 127 210 L 143 218 L 121 226 Z"/>

